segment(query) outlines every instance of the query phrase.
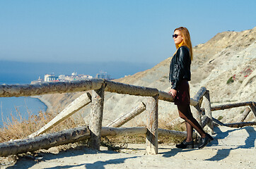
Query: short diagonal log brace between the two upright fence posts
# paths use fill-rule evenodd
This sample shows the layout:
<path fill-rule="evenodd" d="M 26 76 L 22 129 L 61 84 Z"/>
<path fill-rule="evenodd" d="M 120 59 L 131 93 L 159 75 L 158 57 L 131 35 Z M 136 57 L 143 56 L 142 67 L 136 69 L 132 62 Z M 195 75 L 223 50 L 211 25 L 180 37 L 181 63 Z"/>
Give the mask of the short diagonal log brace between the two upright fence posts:
<path fill-rule="evenodd" d="M 129 120 L 132 120 L 132 118 L 136 117 L 136 115 L 139 115 L 145 110 L 146 110 L 146 105 L 143 102 L 141 102 L 131 112 L 122 115 L 120 118 L 117 118 L 115 121 L 108 124 L 107 127 L 121 127 L 122 125 L 127 123 Z"/>

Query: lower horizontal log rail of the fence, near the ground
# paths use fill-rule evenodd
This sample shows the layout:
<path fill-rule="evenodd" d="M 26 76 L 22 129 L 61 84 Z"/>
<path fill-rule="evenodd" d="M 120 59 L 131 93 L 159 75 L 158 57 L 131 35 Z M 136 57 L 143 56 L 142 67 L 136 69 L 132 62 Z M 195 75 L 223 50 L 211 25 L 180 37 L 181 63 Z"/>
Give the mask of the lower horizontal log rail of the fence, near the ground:
<path fill-rule="evenodd" d="M 123 136 L 146 134 L 146 127 L 102 127 L 101 136 Z M 186 132 L 179 132 L 173 130 L 158 129 L 158 134 L 169 137 L 185 138 Z M 10 156 L 15 154 L 22 154 L 28 151 L 33 152 L 39 149 L 49 149 L 53 146 L 62 144 L 69 144 L 79 142 L 81 140 L 90 138 L 90 130 L 88 126 L 76 127 L 61 132 L 54 132 L 51 134 L 42 134 L 37 137 L 18 139 L 10 142 L 0 143 L 0 156 Z M 193 134 L 195 137 L 195 134 Z"/>

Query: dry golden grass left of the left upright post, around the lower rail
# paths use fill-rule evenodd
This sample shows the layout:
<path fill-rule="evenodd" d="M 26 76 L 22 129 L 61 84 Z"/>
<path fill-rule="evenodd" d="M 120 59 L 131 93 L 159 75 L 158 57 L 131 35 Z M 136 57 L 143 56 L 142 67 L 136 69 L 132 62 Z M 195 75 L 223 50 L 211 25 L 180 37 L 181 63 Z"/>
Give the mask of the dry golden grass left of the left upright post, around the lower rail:
<path fill-rule="evenodd" d="M 21 112 L 18 111 L 18 108 L 16 108 L 16 115 L 11 114 L 11 119 L 3 120 L 3 127 L 0 128 L 0 142 L 8 142 L 13 139 L 23 139 L 25 137 L 28 137 L 28 135 L 32 134 L 33 132 L 36 132 L 41 127 L 43 127 L 45 124 L 50 122 L 52 118 L 54 118 L 57 115 L 57 113 L 52 112 L 42 112 L 40 111 L 38 115 L 30 114 L 29 111 L 27 112 L 28 119 L 25 119 L 22 117 Z M 2 115 L 2 119 L 3 115 Z M 61 130 L 69 129 L 77 127 L 78 125 L 85 125 L 83 122 L 83 118 L 78 117 L 74 118 L 73 116 L 67 118 L 59 125 L 53 127 L 48 132 L 58 132 Z M 28 156 L 30 158 L 34 158 L 34 156 L 37 156 L 37 153 L 40 151 L 42 152 L 48 152 L 54 153 L 54 151 L 59 152 L 66 149 L 76 149 L 76 147 L 84 146 L 86 145 L 85 142 L 77 142 L 74 144 L 66 144 L 57 146 L 54 148 L 54 150 L 39 150 L 35 151 L 35 154 L 31 154 L 30 152 L 26 154 L 18 154 L 12 155 L 8 157 L 0 157 L 0 168 L 1 165 L 13 165 L 16 163 L 18 158 L 21 158 L 22 156 Z"/>

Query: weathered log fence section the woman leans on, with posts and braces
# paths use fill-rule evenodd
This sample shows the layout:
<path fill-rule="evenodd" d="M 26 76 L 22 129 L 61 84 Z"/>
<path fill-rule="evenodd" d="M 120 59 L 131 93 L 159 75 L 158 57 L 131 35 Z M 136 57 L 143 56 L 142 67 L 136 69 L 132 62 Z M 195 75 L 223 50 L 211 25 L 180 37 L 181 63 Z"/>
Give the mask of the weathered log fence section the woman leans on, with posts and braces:
<path fill-rule="evenodd" d="M 88 90 L 92 90 L 92 96 L 86 92 Z M 79 96 L 69 104 L 69 106 L 64 108 L 64 110 L 52 119 L 50 123 L 47 123 L 47 125 L 37 132 L 30 134 L 28 138 L 0 144 L 0 156 L 9 156 L 11 154 L 20 154 L 26 151 L 46 149 L 51 146 L 77 142 L 82 139 L 88 139 L 88 144 L 91 148 L 99 149 L 101 136 L 122 134 L 146 134 L 146 153 L 158 154 L 158 134 L 176 137 L 186 136 L 186 132 L 158 129 L 158 99 L 173 102 L 173 97 L 167 92 L 163 92 L 155 88 L 139 87 L 131 84 L 98 79 L 72 82 L 49 82 L 43 84 L 0 85 L 0 97 L 36 96 L 66 92 L 86 93 Z M 132 110 L 131 113 L 123 115 L 121 118 L 115 120 L 114 123 L 110 123 L 107 127 L 102 127 L 105 92 L 146 96 L 148 97 L 148 100 L 146 103 L 141 102 L 136 108 L 134 108 L 134 110 Z M 204 108 L 201 108 L 203 99 Z M 53 134 L 40 135 L 90 103 L 91 120 L 88 127 L 76 127 L 74 129 Z M 190 104 L 191 106 L 194 106 L 196 110 L 194 115 L 199 123 L 202 124 L 203 127 L 208 126 L 209 132 L 214 133 L 209 91 L 206 90 L 205 87 L 199 89 L 199 92 L 190 99 Z M 148 115 L 146 127 L 120 127 L 143 111 L 146 111 Z M 205 114 L 203 121 L 202 112 Z"/>

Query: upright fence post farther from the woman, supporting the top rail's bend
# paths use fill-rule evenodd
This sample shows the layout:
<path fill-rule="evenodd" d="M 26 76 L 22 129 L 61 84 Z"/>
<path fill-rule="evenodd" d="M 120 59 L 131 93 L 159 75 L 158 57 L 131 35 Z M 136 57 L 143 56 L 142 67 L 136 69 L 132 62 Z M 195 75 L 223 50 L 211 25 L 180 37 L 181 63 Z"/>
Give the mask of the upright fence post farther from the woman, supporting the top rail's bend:
<path fill-rule="evenodd" d="M 88 146 L 92 149 L 100 150 L 100 134 L 103 121 L 103 104 L 104 104 L 105 84 L 100 89 L 92 91 L 91 101 L 91 120 L 89 129 L 91 136 L 88 140 Z"/>

